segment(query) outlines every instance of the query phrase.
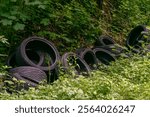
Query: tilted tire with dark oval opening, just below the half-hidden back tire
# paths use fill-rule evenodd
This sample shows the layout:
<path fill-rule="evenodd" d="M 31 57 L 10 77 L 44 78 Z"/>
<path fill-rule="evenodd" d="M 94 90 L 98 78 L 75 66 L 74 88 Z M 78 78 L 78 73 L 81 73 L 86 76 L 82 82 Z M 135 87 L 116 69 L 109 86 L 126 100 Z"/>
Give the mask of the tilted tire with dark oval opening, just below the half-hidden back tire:
<path fill-rule="evenodd" d="M 109 65 L 110 62 L 116 61 L 116 59 L 117 59 L 113 53 L 109 52 L 108 50 L 102 49 L 102 48 L 95 48 L 93 50 L 93 52 L 95 53 L 98 61 L 105 65 Z"/>

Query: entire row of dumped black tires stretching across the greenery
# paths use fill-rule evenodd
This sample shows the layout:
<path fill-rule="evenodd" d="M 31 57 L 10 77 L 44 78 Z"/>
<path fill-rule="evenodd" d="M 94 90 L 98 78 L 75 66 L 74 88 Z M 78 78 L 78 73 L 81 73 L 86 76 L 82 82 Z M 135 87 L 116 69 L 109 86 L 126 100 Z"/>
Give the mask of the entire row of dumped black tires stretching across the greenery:
<path fill-rule="evenodd" d="M 29 37 L 22 41 L 19 47 L 10 54 L 7 65 L 11 66 L 9 73 L 18 80 L 25 81 L 25 88 L 37 86 L 43 80 L 47 83 L 58 79 L 59 68 L 66 73 L 90 75 L 100 64 L 109 65 L 122 54 L 129 57 L 128 50 L 141 52 L 141 41 L 150 49 L 148 28 L 139 25 L 131 30 L 126 40 L 126 48 L 122 47 L 109 36 L 101 35 L 92 48 L 80 48 L 75 52 L 66 52 L 60 56 L 55 45 L 41 37 Z"/>

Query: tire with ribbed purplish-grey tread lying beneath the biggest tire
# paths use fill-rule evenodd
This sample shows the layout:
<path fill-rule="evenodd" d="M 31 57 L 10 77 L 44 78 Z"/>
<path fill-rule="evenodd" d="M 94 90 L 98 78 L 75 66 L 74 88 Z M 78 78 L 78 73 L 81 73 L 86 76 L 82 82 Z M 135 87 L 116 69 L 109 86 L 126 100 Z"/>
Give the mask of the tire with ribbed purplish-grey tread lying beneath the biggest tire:
<path fill-rule="evenodd" d="M 26 80 L 29 80 L 35 84 L 40 83 L 42 80 L 47 78 L 47 75 L 44 71 L 40 70 L 39 68 L 30 67 L 30 66 L 23 66 L 23 67 L 16 67 L 9 70 L 10 74 L 19 74 Z"/>

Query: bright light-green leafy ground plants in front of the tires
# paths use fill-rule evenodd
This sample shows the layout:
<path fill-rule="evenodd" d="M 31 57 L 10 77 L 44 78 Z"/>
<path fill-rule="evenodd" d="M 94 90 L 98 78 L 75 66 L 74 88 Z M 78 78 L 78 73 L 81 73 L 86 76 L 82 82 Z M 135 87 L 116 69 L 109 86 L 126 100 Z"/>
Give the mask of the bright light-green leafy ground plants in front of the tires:
<path fill-rule="evenodd" d="M 0 99 L 52 100 L 137 100 L 150 99 L 150 55 L 135 55 L 120 59 L 110 66 L 101 66 L 90 77 L 62 74 L 52 85 L 9 94 L 0 93 Z"/>

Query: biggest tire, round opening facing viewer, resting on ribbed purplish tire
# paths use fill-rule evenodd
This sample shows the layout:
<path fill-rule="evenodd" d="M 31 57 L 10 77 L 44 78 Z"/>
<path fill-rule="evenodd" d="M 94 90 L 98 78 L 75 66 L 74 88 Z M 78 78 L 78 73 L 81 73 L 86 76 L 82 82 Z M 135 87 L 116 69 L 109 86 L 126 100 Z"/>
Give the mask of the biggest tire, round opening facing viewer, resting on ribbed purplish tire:
<path fill-rule="evenodd" d="M 51 64 L 48 66 L 37 65 L 27 56 L 27 49 L 47 53 L 53 62 L 49 60 L 48 62 Z M 33 66 L 44 71 L 51 71 L 57 66 L 60 55 L 56 47 L 50 41 L 40 37 L 29 37 L 21 43 L 16 54 L 16 60 L 20 66 Z"/>

